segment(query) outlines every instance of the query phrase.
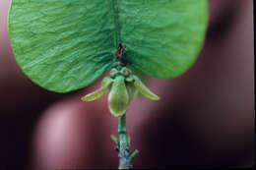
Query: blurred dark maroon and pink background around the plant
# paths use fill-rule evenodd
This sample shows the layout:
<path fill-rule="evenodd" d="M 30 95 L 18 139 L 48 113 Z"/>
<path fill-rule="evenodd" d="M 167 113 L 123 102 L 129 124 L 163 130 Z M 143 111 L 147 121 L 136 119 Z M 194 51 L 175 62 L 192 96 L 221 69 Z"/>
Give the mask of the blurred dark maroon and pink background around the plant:
<path fill-rule="evenodd" d="M 0 1 L 0 170 L 116 168 L 109 136 L 117 119 L 96 89 L 58 94 L 17 66 Z M 194 66 L 174 80 L 150 80 L 159 102 L 136 99 L 127 112 L 134 168 L 231 168 L 254 165 L 253 0 L 209 0 L 209 28 Z"/>

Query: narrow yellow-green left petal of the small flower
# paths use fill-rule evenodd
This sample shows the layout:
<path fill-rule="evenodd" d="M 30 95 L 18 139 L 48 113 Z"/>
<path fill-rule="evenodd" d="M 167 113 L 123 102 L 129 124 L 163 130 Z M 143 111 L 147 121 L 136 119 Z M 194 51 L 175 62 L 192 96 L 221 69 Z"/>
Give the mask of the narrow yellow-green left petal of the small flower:
<path fill-rule="evenodd" d="M 98 88 L 96 91 L 87 94 L 86 96 L 82 97 L 81 99 L 83 101 L 93 101 L 96 100 L 97 98 L 99 98 L 100 96 L 103 95 L 103 93 L 105 92 L 105 90 L 112 85 L 112 83 L 114 82 L 113 80 L 109 80 L 108 77 L 106 77 L 107 79 L 105 79 L 104 83 L 102 82 L 102 86 L 100 88 Z"/>

